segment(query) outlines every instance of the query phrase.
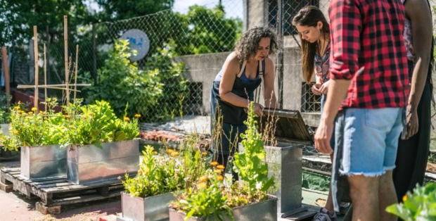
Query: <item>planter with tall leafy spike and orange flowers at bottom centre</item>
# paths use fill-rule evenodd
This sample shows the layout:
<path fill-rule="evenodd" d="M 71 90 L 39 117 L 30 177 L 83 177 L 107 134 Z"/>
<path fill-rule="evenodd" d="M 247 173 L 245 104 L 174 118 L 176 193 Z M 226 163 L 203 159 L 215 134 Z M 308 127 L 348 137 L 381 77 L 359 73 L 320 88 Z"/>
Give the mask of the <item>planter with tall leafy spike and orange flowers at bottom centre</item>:
<path fill-rule="evenodd" d="M 268 165 L 263 160 L 266 153 L 254 118 L 254 110 L 250 108 L 245 122 L 248 129 L 241 135 L 245 152 L 236 153 L 233 161 L 240 182 L 230 187 L 224 185 L 224 177 L 218 175 L 224 165 L 212 162 L 216 174 L 202 177 L 197 187 L 186 189 L 171 204 L 170 221 L 277 220 L 276 198 L 267 194 L 274 189 L 274 178 L 268 178 Z"/>

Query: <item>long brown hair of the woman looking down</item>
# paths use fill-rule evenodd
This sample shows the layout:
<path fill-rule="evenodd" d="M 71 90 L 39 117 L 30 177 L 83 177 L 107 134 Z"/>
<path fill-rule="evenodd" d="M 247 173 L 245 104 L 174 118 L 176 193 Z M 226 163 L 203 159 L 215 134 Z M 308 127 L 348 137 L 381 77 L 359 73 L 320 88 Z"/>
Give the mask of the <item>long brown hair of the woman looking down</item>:
<path fill-rule="evenodd" d="M 330 37 L 330 27 L 327 23 L 326 17 L 324 17 L 322 11 L 315 6 L 305 6 L 304 8 L 301 8 L 301 10 L 298 11 L 297 15 L 295 15 L 292 20 L 292 24 L 294 26 L 301 25 L 307 27 L 316 27 L 318 22 L 323 23 L 321 34 L 323 34 L 324 39 L 326 39 L 326 37 Z M 312 77 L 314 75 L 314 61 L 317 43 L 307 42 L 306 40 L 302 39 L 301 33 L 299 34 L 301 40 L 303 78 L 307 83 L 309 83 L 312 81 Z"/>

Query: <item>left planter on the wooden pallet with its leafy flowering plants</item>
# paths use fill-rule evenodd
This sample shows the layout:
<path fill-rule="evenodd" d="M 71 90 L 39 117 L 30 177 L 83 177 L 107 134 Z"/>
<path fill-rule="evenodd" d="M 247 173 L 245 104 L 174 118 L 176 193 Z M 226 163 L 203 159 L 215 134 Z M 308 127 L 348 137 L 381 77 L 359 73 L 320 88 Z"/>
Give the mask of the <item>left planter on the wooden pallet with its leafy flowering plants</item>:
<path fill-rule="evenodd" d="M 54 113 L 56 99 L 47 99 L 49 110 L 44 113 L 37 108 L 26 112 L 23 106 L 11 109 L 10 134 L 0 137 L 4 149 L 21 149 L 21 175 L 25 179 L 49 179 L 67 175 L 67 153 L 60 148 L 65 137 L 65 121 L 61 113 Z M 51 115 L 47 118 L 46 115 Z"/>

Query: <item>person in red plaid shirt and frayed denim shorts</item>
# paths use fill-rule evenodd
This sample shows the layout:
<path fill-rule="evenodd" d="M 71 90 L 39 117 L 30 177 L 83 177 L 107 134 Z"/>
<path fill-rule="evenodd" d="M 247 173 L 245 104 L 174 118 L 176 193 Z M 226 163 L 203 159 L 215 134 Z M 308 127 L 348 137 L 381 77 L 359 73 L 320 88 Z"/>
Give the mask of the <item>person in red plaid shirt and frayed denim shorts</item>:
<path fill-rule="evenodd" d="M 331 84 L 315 146 L 333 152 L 335 122 L 332 193 L 345 176 L 353 220 L 396 220 L 385 208 L 397 202 L 392 170 L 409 94 L 404 6 L 400 0 L 332 0 L 328 15 Z"/>

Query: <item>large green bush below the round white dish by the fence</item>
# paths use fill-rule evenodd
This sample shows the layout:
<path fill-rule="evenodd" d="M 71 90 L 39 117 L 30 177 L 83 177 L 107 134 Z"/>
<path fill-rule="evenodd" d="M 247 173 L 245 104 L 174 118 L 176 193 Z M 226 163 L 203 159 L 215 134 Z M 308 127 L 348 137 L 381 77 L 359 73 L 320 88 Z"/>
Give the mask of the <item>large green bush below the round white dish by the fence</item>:
<path fill-rule="evenodd" d="M 117 115 L 122 115 L 126 103 L 128 115 L 145 115 L 162 96 L 162 83 L 158 70 L 139 70 L 129 61 L 134 52 L 129 43 L 118 41 L 110 51 L 105 65 L 98 70 L 98 84 L 87 90 L 89 103 L 103 99 L 109 101 Z"/>

